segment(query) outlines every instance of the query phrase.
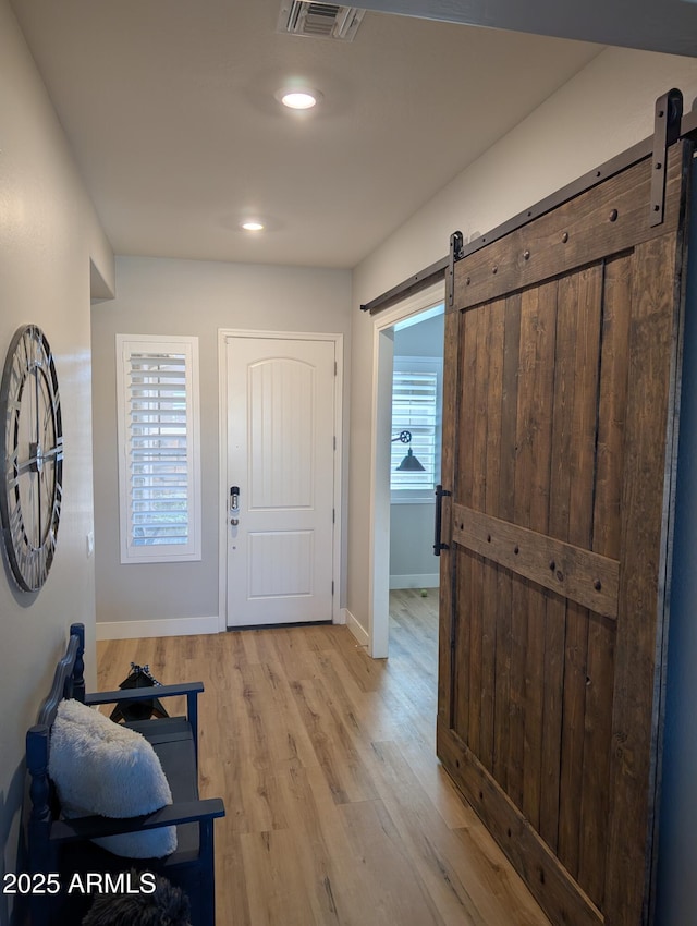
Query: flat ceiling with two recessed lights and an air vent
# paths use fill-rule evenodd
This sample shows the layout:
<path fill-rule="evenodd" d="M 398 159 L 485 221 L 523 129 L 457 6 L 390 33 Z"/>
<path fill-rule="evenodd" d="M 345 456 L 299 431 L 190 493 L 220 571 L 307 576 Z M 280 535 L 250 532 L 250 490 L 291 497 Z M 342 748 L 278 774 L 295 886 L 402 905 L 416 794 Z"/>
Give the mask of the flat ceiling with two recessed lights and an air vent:
<path fill-rule="evenodd" d="M 602 48 L 372 10 L 352 42 L 281 35 L 280 0 L 13 7 L 127 255 L 354 267 Z M 291 78 L 315 110 L 282 110 Z"/>

